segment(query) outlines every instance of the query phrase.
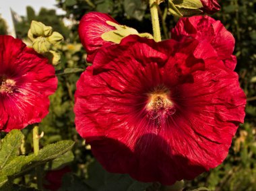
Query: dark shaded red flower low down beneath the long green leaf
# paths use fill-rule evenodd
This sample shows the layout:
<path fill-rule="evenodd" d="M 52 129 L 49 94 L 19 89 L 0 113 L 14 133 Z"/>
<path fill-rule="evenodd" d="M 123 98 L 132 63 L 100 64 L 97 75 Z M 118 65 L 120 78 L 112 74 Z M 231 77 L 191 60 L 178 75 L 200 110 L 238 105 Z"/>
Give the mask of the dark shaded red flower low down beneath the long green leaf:
<path fill-rule="evenodd" d="M 62 178 L 65 174 L 71 172 L 69 167 L 63 167 L 62 169 L 47 171 L 44 179 L 48 184 L 44 184 L 44 188 L 51 191 L 57 191 L 61 188 Z"/>

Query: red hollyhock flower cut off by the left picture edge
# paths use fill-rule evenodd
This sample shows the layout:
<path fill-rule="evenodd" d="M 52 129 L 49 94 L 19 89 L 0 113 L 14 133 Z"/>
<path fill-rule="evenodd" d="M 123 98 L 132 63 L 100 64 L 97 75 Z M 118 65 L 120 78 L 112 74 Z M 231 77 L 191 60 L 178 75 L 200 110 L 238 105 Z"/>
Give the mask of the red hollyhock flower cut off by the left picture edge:
<path fill-rule="evenodd" d="M 57 88 L 55 69 L 22 40 L 0 36 L 0 130 L 40 122 Z"/>

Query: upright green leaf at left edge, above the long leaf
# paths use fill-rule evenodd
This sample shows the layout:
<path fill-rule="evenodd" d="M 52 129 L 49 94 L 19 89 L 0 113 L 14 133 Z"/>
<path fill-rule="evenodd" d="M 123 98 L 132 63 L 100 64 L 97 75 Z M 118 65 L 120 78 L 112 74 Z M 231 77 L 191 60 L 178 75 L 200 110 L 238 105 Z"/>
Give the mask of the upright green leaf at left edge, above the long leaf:
<path fill-rule="evenodd" d="M 22 132 L 20 130 L 11 130 L 1 144 L 0 151 L 0 170 L 7 165 L 18 154 L 18 149 L 22 145 Z"/>

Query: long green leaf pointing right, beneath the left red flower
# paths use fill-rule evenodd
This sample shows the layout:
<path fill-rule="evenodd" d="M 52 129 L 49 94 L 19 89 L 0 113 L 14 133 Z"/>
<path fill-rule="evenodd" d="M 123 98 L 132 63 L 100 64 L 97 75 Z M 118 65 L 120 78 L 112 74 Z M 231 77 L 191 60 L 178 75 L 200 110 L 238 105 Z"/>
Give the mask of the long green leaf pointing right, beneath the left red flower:
<path fill-rule="evenodd" d="M 63 155 L 69 151 L 73 145 L 73 141 L 59 141 L 51 145 L 46 145 L 46 147 L 40 149 L 38 155 L 32 154 L 28 156 L 15 157 L 0 171 L 0 185 L 5 181 L 5 176 L 8 178 L 18 177 L 38 165 L 42 165 L 48 161 L 56 159 L 60 155 Z"/>

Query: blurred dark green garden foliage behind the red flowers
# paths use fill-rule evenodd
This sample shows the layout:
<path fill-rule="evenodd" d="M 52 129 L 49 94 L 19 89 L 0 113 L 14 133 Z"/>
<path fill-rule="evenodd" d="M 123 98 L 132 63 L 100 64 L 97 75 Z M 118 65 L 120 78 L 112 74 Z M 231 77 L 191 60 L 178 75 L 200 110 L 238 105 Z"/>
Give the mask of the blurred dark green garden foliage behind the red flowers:
<path fill-rule="evenodd" d="M 56 0 L 56 5 L 66 11 L 66 14 L 56 15 L 54 9 L 44 8 L 40 9 L 39 13 L 35 13 L 32 7 L 27 7 L 27 15 L 26 17 L 22 17 L 22 21 L 15 24 L 15 32 L 18 38 L 28 41 L 26 39 L 30 22 L 36 20 L 43 22 L 47 26 L 52 26 L 55 31 L 63 34 L 65 42 L 59 46 L 61 63 L 56 66 L 57 70 L 67 68 L 86 69 L 90 65 L 90 63 L 86 63 L 86 52 L 82 48 L 77 34 L 79 20 L 84 13 L 88 13 L 89 11 L 109 13 L 120 24 L 136 28 L 139 32 L 152 33 L 150 12 L 146 1 Z M 229 155 L 224 163 L 216 167 L 216 169 L 201 174 L 195 180 L 185 181 L 185 188 L 187 190 L 206 187 L 210 190 L 255 191 L 256 0 L 226 0 L 220 2 L 220 5 L 222 7 L 221 11 L 212 15 L 212 17 L 220 20 L 236 38 L 234 54 L 237 56 L 238 64 L 235 71 L 239 74 L 241 87 L 243 87 L 247 95 L 247 116 L 245 123 L 241 124 L 238 128 L 236 136 L 232 141 Z M 159 9 L 163 39 L 170 38 L 170 28 L 173 28 L 178 20 L 177 17 L 166 14 L 166 7 L 167 4 L 162 3 Z M 63 21 L 68 21 L 69 25 L 67 26 Z M 7 26 L 1 17 L 0 34 L 7 34 Z M 75 83 L 79 75 L 80 73 L 58 76 L 59 87 L 57 92 L 51 96 L 50 113 L 40 124 L 40 130 L 44 131 L 44 137 L 40 140 L 41 146 L 65 139 L 76 141 L 76 145 L 73 148 L 73 155 L 69 153 L 69 157 L 66 159 L 69 162 L 73 174 L 65 176 L 65 184 L 61 189 L 111 190 L 111 188 L 117 189 L 115 187 L 117 186 L 117 182 L 123 186 L 129 185 L 130 183 L 135 184 L 133 180 L 127 177 L 106 173 L 100 165 L 94 162 L 90 146 L 86 145 L 85 141 L 75 131 L 73 95 Z M 25 153 L 30 153 L 32 149 L 32 128 L 25 128 L 23 132 L 27 137 L 24 151 Z M 70 163 L 70 161 L 72 162 Z M 61 166 L 57 168 L 59 167 Z M 30 174 L 26 175 L 24 180 L 17 179 L 16 183 L 33 186 L 34 180 Z M 139 188 L 142 189 L 142 187 Z M 139 190 L 137 187 L 134 188 Z M 125 190 L 126 187 L 119 189 Z"/>

